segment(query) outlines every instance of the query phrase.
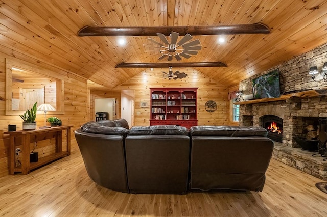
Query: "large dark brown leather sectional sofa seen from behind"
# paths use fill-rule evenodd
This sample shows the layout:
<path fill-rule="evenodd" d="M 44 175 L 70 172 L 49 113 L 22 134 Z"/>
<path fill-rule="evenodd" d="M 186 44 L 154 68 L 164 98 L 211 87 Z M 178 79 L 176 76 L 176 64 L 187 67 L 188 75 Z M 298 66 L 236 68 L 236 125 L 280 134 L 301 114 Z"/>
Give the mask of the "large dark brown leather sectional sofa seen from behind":
<path fill-rule="evenodd" d="M 262 191 L 274 143 L 261 127 L 88 122 L 75 131 L 89 177 L 126 193 Z"/>

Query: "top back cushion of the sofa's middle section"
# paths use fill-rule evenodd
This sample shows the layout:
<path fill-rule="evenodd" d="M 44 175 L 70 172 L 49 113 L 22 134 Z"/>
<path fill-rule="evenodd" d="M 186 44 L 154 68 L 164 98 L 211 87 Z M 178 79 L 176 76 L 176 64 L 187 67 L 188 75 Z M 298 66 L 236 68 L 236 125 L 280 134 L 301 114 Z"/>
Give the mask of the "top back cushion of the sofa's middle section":
<path fill-rule="evenodd" d="M 128 135 L 189 135 L 189 130 L 176 125 L 134 126 Z"/>

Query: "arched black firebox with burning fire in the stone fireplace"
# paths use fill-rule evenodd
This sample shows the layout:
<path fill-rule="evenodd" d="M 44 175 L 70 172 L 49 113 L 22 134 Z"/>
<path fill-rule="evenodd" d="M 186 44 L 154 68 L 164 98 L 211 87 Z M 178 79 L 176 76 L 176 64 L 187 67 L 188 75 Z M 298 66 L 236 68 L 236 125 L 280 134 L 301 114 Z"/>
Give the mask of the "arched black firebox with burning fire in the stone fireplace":
<path fill-rule="evenodd" d="M 283 140 L 283 119 L 275 115 L 262 117 L 262 127 L 268 131 L 267 137 L 276 142 Z"/>

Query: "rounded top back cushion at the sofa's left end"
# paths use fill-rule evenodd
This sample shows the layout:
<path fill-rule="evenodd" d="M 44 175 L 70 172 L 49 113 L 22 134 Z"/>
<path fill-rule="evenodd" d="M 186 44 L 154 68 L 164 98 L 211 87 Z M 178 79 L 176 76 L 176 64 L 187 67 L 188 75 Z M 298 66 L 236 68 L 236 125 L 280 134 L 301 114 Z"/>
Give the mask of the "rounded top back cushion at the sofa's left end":
<path fill-rule="evenodd" d="M 82 132 L 104 134 L 104 135 L 127 135 L 128 129 L 124 127 L 103 126 L 95 121 L 89 121 L 81 126 Z"/>

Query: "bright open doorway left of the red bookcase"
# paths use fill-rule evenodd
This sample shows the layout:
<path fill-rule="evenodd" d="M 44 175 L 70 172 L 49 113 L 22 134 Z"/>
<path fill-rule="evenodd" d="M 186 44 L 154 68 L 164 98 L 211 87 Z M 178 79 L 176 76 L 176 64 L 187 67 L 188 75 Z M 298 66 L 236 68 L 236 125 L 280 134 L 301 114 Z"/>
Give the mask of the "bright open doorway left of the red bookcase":
<path fill-rule="evenodd" d="M 115 98 L 96 98 L 94 120 L 96 120 L 97 112 L 108 113 L 108 117 L 106 119 L 115 120 L 117 115 L 116 105 L 117 105 L 117 99 Z"/>

